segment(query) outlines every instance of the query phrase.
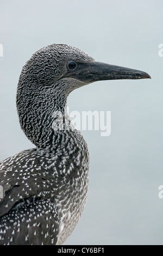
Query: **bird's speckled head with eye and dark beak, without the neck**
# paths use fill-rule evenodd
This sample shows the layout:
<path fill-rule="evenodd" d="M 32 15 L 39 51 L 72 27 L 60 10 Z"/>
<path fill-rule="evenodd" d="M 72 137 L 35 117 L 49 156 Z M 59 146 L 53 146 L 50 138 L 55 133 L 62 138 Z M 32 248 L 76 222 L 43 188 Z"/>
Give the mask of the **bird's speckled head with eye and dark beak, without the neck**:
<path fill-rule="evenodd" d="M 35 86 L 51 86 L 66 79 L 70 91 L 100 80 L 140 78 L 151 77 L 140 70 L 96 62 L 84 51 L 64 44 L 52 44 L 35 52 L 20 77 Z"/>

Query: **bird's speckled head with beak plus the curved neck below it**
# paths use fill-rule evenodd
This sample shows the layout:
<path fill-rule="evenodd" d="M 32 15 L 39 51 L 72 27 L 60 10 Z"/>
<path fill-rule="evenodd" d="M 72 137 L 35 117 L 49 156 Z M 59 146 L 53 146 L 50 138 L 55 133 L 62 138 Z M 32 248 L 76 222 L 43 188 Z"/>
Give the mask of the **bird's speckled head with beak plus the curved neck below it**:
<path fill-rule="evenodd" d="M 150 76 L 96 62 L 68 45 L 44 47 L 33 54 L 20 75 L 16 106 L 21 127 L 37 147 L 46 147 L 52 141 L 54 119 L 66 115 L 66 100 L 72 90 L 99 80 L 139 78 Z"/>

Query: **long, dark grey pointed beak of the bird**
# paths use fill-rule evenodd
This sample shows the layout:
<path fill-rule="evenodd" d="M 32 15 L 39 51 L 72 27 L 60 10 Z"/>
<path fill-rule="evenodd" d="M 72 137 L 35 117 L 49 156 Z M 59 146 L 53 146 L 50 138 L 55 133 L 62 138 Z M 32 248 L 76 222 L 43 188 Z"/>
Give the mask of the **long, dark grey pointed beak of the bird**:
<path fill-rule="evenodd" d="M 140 70 L 101 62 L 79 63 L 76 70 L 67 72 L 64 77 L 72 77 L 85 83 L 101 80 L 151 78 L 146 72 Z"/>

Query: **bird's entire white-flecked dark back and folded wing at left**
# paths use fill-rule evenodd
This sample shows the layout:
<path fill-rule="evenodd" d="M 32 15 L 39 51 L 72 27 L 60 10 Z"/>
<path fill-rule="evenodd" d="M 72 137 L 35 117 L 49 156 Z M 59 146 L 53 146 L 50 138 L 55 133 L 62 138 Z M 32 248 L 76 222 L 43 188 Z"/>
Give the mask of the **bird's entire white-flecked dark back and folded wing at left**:
<path fill-rule="evenodd" d="M 49 181 L 53 168 L 36 150 L 25 150 L 0 163 L 0 245 L 55 245 L 59 216 Z M 56 188 L 57 189 L 57 188 Z M 2 195 L 2 193 L 1 193 Z M 10 230 L 10 231 L 8 231 Z"/>

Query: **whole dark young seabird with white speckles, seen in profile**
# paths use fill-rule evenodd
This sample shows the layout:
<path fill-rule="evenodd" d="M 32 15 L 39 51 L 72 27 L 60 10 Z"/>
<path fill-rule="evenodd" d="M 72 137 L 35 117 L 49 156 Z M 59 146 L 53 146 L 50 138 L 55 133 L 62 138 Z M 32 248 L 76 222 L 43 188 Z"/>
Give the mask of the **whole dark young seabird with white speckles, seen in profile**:
<path fill-rule="evenodd" d="M 66 44 L 45 46 L 24 64 L 16 107 L 35 148 L 0 163 L 0 245 L 66 241 L 85 208 L 89 174 L 89 151 L 68 116 L 67 97 L 92 82 L 140 78 L 151 77 Z"/>

